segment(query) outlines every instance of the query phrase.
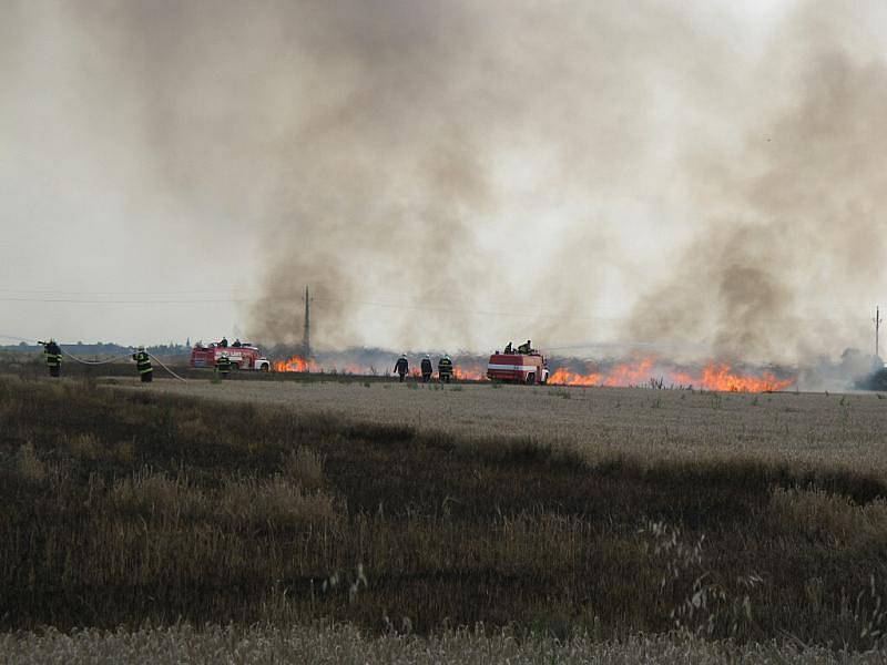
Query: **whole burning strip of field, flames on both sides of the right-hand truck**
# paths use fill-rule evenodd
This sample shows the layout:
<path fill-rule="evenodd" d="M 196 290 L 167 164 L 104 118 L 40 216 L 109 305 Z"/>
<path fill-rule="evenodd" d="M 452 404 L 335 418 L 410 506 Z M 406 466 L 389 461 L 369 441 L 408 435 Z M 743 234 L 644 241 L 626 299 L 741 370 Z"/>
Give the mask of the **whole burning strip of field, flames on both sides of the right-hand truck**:
<path fill-rule="evenodd" d="M 392 354 L 343 351 L 304 358 L 293 355 L 274 364 L 275 371 L 388 376 Z M 411 375 L 419 377 L 421 356 L 410 358 Z M 434 357 L 435 365 L 437 357 Z M 456 378 L 486 381 L 487 358 L 462 355 L 453 358 Z M 704 364 L 679 364 L 652 355 L 628 359 L 580 360 L 552 358 L 549 362 L 554 386 L 603 386 L 609 388 L 677 388 L 723 392 L 775 392 L 797 383 L 795 374 L 783 368 L 761 368 L 745 364 L 710 360 Z"/>

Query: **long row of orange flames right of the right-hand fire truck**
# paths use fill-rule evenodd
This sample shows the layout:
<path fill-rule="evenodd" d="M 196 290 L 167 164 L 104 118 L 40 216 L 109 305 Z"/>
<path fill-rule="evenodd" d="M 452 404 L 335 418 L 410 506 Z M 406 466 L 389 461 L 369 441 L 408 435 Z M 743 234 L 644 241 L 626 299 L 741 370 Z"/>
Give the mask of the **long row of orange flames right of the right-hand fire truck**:
<path fill-rule="evenodd" d="M 616 365 L 606 371 L 578 374 L 565 368 L 557 369 L 549 379 L 549 383 L 562 386 L 642 386 L 654 381 L 656 361 L 654 358 L 643 358 L 634 362 Z M 764 371 L 759 377 L 734 374 L 726 362 L 710 362 L 702 374 L 692 374 L 687 370 L 663 370 L 663 385 L 694 386 L 704 390 L 721 390 L 725 392 L 772 392 L 783 390 L 794 383 L 794 379 L 778 379 L 772 372 Z"/>

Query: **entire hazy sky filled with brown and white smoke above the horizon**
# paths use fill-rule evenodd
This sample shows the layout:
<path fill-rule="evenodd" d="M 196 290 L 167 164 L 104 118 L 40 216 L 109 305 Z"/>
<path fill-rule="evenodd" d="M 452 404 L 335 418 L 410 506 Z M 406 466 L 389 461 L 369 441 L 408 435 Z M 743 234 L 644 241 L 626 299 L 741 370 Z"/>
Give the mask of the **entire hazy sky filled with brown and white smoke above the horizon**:
<path fill-rule="evenodd" d="M 879 3 L 3 12 L 4 280 L 245 294 L 224 313 L 89 317 L 120 335 L 237 320 L 297 341 L 310 285 L 330 348 L 530 337 L 796 360 L 870 337 L 887 288 Z M 75 259 L 13 248 L 54 232 Z"/>

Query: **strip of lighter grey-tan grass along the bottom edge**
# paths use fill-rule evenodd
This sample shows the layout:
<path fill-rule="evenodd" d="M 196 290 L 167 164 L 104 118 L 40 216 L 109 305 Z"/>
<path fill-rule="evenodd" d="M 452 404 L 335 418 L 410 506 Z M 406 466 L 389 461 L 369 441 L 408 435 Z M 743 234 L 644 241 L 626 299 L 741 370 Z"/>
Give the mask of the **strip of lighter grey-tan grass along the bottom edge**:
<path fill-rule="evenodd" d="M 829 665 L 877 664 L 881 655 L 835 653 L 786 642 L 736 644 L 687 635 L 641 635 L 619 642 L 575 637 L 569 642 L 541 636 L 520 640 L 509 632 L 450 631 L 431 637 L 388 634 L 368 637 L 353 626 L 190 626 L 129 631 L 80 631 L 72 635 L 0 634 L 0 655 L 11 663 L 92 665 L 177 665 L 242 663 L 277 665 Z"/>

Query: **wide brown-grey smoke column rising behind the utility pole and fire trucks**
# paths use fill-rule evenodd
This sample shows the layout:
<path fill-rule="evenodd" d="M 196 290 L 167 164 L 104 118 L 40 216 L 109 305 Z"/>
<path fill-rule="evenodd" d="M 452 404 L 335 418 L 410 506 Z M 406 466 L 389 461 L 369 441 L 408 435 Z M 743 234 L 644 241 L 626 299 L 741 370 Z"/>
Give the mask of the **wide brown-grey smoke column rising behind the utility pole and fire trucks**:
<path fill-rule="evenodd" d="M 664 42 L 700 41 L 692 25 L 652 4 L 306 11 L 288 17 L 307 59 L 290 73 L 316 89 L 288 127 L 258 334 L 298 330 L 302 283 L 325 344 L 570 334 L 619 262 L 595 200 L 653 150 L 644 69 Z M 640 49 L 612 34 L 632 30 Z"/>

